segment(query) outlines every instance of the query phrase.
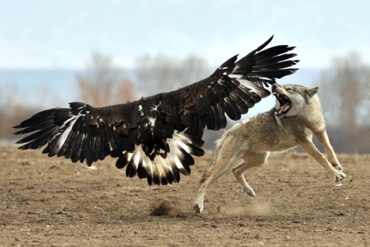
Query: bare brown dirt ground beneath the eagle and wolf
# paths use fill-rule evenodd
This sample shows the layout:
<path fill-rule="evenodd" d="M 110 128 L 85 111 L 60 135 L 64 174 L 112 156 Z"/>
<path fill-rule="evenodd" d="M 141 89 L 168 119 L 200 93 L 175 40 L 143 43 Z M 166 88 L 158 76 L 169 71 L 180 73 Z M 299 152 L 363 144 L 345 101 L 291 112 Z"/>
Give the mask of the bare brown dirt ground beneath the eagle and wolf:
<path fill-rule="evenodd" d="M 337 185 L 308 154 L 272 154 L 244 174 L 256 198 L 228 173 L 195 214 L 211 158 L 150 187 L 113 159 L 87 168 L 0 146 L 0 246 L 370 246 L 370 154 L 339 154 Z"/>

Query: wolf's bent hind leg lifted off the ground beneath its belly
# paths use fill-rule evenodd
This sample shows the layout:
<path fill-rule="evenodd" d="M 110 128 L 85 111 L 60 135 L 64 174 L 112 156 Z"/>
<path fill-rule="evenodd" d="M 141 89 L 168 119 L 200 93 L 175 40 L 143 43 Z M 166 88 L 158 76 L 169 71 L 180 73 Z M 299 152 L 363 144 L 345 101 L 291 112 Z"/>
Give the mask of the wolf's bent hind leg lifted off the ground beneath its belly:
<path fill-rule="evenodd" d="M 246 182 L 243 173 L 249 168 L 265 164 L 268 157 L 269 152 L 246 152 L 242 157 L 242 163 L 237 164 L 237 166 L 232 168 L 232 174 L 234 174 L 237 182 L 242 185 L 244 193 L 248 196 L 255 197 L 256 193 L 254 193 L 251 186 Z"/>

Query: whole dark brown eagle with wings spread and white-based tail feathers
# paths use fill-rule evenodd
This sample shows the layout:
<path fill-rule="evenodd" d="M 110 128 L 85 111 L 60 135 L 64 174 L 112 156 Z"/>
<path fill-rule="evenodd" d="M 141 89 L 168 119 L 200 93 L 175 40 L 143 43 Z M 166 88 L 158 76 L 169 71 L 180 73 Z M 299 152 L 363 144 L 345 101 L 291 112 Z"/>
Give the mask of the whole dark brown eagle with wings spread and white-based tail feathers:
<path fill-rule="evenodd" d="M 147 178 L 151 184 L 179 182 L 189 175 L 192 155 L 202 156 L 203 131 L 226 126 L 269 95 L 264 86 L 293 74 L 298 61 L 288 54 L 295 47 L 264 49 L 273 37 L 237 61 L 225 61 L 208 78 L 169 93 L 142 97 L 135 102 L 94 107 L 81 102 L 54 108 L 24 120 L 15 134 L 29 134 L 17 144 L 22 150 L 47 145 L 43 153 L 91 166 L 110 155 L 126 175 Z"/>

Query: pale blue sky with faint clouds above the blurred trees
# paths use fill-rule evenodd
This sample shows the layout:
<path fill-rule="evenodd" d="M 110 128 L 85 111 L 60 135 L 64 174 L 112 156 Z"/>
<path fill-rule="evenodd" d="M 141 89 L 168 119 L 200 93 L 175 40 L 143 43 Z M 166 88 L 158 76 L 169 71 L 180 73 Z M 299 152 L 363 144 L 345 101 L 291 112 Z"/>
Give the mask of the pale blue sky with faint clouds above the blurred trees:
<path fill-rule="evenodd" d="M 370 1 L 2 1 L 1 68 L 83 68 L 91 51 L 133 67 L 142 54 L 219 65 L 274 34 L 299 67 L 358 51 L 370 63 Z"/>

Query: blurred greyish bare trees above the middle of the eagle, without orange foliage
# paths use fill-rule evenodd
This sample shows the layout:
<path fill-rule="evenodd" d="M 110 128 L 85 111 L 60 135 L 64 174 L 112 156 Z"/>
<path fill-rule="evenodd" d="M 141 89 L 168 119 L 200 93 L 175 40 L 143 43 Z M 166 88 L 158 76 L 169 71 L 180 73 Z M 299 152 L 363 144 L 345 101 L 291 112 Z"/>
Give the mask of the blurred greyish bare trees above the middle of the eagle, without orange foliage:
<path fill-rule="evenodd" d="M 209 67 L 205 59 L 188 56 L 176 57 L 146 54 L 137 58 L 136 77 L 142 87 L 149 87 L 149 94 L 168 92 L 209 76 Z"/>

